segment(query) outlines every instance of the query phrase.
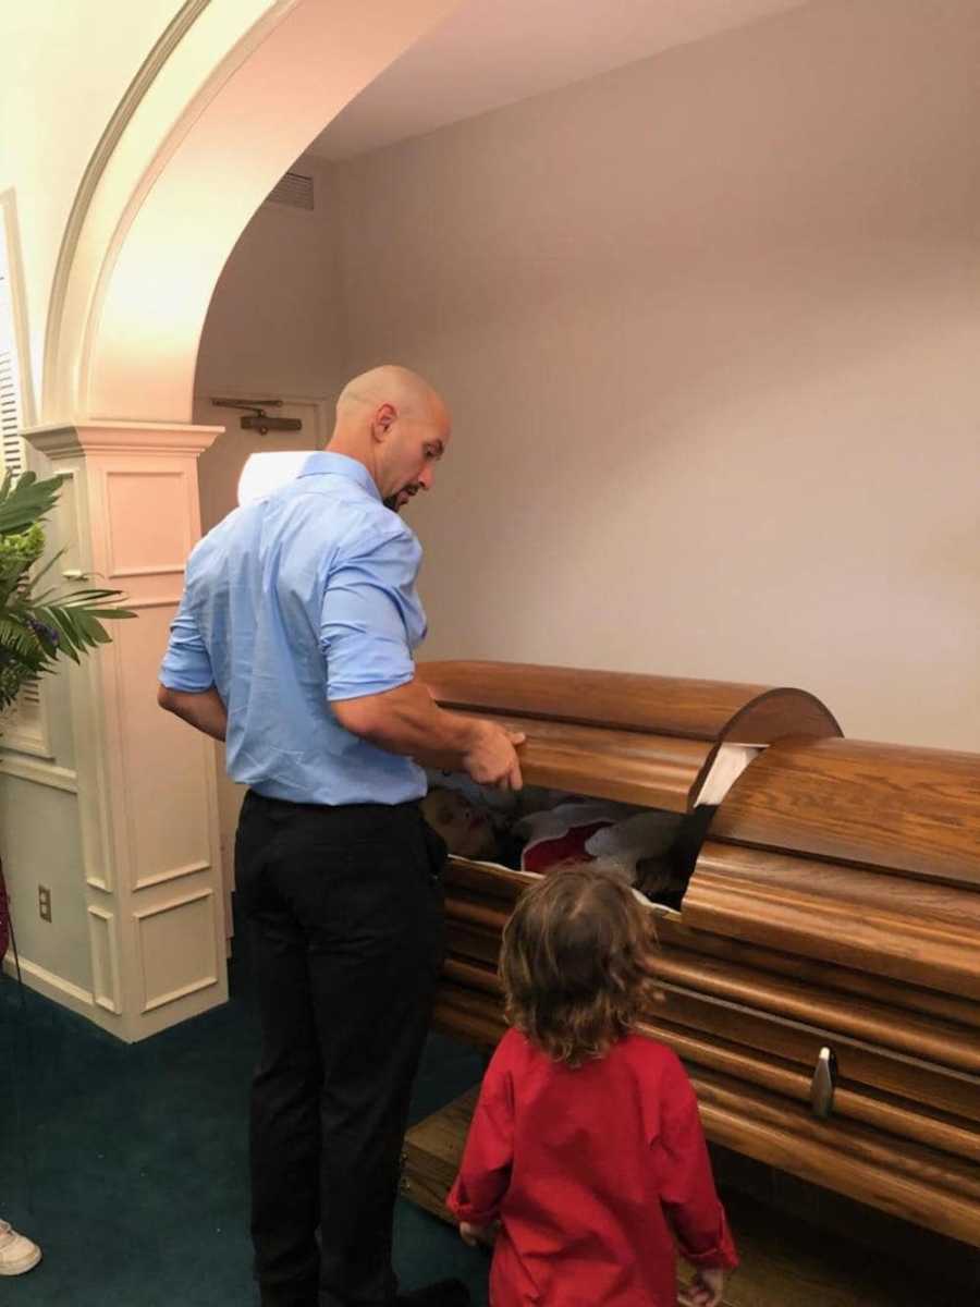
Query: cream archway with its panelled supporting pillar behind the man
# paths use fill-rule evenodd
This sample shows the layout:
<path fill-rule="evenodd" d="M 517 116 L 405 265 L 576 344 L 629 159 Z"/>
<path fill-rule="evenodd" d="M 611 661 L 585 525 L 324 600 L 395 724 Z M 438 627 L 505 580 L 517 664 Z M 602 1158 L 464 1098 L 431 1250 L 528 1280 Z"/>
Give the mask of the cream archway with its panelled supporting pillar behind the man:
<path fill-rule="evenodd" d="M 208 305 L 282 173 L 453 3 L 187 0 L 72 209 L 29 439 L 68 478 L 72 566 L 124 589 L 140 620 L 71 680 L 71 732 L 42 784 L 77 796 L 78 878 L 59 920 L 76 955 L 71 976 L 35 968 L 34 983 L 123 1039 L 227 993 L 214 753 L 154 694 L 200 536 L 197 457 L 220 430 L 189 422 Z M 55 819 L 52 793 L 35 822 Z"/>

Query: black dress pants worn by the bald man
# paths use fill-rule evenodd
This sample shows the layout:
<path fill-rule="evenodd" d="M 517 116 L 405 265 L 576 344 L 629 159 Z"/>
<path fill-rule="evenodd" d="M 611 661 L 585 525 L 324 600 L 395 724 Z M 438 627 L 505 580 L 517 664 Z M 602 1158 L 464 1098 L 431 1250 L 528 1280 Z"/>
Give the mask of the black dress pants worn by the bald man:
<path fill-rule="evenodd" d="M 263 1307 L 395 1299 L 392 1214 L 443 957 L 444 860 L 417 804 L 246 795 L 235 880 L 261 1019 L 251 1172 Z"/>

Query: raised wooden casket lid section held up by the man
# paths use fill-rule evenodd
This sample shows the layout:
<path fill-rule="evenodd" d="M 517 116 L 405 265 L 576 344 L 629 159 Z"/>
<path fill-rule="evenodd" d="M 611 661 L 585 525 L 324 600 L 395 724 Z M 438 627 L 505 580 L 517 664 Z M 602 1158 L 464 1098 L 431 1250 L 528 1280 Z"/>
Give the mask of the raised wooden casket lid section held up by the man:
<path fill-rule="evenodd" d="M 422 663 L 443 708 L 527 735 L 528 784 L 685 813 L 719 749 L 839 736 L 805 690 L 524 663 Z"/>

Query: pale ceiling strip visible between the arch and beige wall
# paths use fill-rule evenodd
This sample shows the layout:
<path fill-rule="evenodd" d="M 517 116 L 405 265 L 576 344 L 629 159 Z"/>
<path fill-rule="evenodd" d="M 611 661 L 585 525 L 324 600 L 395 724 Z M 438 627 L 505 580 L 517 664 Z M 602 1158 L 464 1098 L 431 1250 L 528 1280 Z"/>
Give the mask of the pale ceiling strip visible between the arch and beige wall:
<path fill-rule="evenodd" d="M 350 158 L 809 0 L 463 0 L 316 137 Z"/>

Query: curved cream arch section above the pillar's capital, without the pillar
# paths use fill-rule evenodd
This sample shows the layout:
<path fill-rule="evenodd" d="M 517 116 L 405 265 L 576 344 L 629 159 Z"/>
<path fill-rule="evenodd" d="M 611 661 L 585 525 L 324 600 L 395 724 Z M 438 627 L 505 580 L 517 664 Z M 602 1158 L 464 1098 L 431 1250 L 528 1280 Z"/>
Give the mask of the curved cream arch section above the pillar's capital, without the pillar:
<path fill-rule="evenodd" d="M 191 0 L 69 223 L 42 421 L 186 422 L 221 268 L 289 165 L 459 0 Z M 146 65 L 145 65 L 146 67 Z M 216 184 L 220 182 L 220 184 Z"/>

